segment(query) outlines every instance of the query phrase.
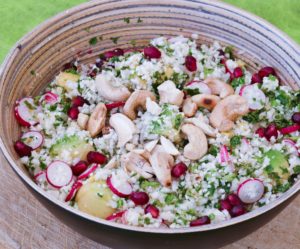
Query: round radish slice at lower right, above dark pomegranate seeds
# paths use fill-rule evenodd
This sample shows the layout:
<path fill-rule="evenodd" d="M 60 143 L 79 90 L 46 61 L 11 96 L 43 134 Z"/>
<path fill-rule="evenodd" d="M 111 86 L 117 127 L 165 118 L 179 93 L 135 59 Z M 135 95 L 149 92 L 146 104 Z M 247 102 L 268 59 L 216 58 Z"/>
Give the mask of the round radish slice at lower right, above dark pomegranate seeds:
<path fill-rule="evenodd" d="M 258 201 L 264 194 L 265 186 L 259 179 L 248 179 L 240 184 L 237 190 L 242 202 L 250 204 Z"/>

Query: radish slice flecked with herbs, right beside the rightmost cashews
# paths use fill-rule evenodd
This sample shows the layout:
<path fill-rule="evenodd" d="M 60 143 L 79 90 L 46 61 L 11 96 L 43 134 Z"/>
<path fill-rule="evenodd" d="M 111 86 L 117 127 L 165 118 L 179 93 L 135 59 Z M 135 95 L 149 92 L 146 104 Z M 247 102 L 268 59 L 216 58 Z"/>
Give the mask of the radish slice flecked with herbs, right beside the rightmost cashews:
<path fill-rule="evenodd" d="M 252 110 L 260 110 L 266 103 L 266 95 L 257 84 L 243 86 L 239 95 L 247 99 L 249 108 Z"/>

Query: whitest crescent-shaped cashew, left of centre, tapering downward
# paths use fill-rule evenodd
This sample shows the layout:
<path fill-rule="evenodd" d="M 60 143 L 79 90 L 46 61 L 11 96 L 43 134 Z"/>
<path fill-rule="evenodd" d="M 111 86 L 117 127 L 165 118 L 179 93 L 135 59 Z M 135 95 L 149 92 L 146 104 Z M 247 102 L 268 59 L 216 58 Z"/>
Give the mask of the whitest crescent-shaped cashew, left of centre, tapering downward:
<path fill-rule="evenodd" d="M 134 123 L 121 113 L 113 114 L 109 119 L 109 124 L 118 135 L 118 147 L 122 147 L 130 141 L 136 131 Z"/>

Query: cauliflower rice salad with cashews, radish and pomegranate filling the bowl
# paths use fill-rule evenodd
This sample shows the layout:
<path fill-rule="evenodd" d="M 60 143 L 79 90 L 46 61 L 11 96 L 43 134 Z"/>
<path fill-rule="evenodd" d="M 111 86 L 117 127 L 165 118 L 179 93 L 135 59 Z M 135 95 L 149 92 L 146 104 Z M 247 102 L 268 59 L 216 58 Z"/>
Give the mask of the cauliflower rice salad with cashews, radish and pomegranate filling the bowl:
<path fill-rule="evenodd" d="M 287 191 L 300 174 L 300 92 L 196 40 L 68 63 L 17 101 L 14 147 L 36 184 L 93 216 L 166 228 L 222 222 Z"/>

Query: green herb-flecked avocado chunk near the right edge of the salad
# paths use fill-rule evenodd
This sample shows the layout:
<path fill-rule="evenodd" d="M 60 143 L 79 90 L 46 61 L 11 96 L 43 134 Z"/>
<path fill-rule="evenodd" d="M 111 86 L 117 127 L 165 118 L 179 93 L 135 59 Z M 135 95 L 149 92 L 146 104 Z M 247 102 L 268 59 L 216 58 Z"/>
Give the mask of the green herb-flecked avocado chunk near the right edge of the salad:
<path fill-rule="evenodd" d="M 269 150 L 265 156 L 270 159 L 270 164 L 264 169 L 265 174 L 278 183 L 288 180 L 290 176 L 289 163 L 284 154 L 278 150 Z"/>

